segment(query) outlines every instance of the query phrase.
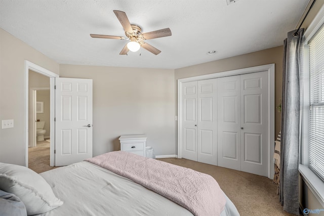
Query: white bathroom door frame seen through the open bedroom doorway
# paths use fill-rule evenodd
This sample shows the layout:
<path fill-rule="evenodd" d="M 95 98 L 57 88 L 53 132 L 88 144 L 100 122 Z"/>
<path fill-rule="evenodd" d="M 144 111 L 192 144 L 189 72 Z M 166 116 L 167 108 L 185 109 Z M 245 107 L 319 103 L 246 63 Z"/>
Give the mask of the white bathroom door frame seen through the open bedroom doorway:
<path fill-rule="evenodd" d="M 43 91 L 43 90 L 50 90 L 50 88 L 48 88 L 48 87 L 29 88 L 29 99 L 31 98 L 31 103 L 32 103 L 31 104 L 31 109 L 32 109 L 32 121 L 33 121 L 33 125 L 32 125 L 32 128 L 31 128 L 32 133 L 30 133 L 30 131 L 28 132 L 28 140 L 29 140 L 28 144 L 31 144 L 30 147 L 36 147 L 36 123 L 35 123 L 35 120 L 36 120 L 36 107 L 35 107 L 35 104 L 36 104 L 36 92 L 37 91 Z M 29 113 L 28 113 L 28 116 L 29 116 Z M 28 122 L 28 125 L 29 125 L 29 122 Z M 30 137 L 30 135 L 32 135 L 32 136 Z"/>

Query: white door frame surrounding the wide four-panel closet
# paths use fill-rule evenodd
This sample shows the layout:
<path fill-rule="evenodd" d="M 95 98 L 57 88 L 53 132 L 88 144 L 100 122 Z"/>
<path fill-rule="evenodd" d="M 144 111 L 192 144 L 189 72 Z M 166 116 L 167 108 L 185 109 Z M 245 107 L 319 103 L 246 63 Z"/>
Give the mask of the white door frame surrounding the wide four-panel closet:
<path fill-rule="evenodd" d="M 213 78 L 219 78 L 224 76 L 233 76 L 233 75 L 240 75 L 240 74 L 246 74 L 246 73 L 254 73 L 254 72 L 261 72 L 261 71 L 268 71 L 268 104 L 270 104 L 270 109 L 268 111 L 268 142 L 273 143 L 273 145 L 269 145 L 268 147 L 268 158 L 269 158 L 269 164 L 268 164 L 268 178 L 273 178 L 274 173 L 274 166 L 273 166 L 273 153 L 274 153 L 274 67 L 275 64 L 267 64 L 267 65 L 261 65 L 261 66 L 255 66 L 255 67 L 249 67 L 249 68 L 242 68 L 237 70 L 230 70 L 230 71 L 224 71 L 219 73 L 212 73 L 212 74 L 206 74 L 206 75 L 200 75 L 200 76 L 193 76 L 188 78 L 182 78 L 178 79 L 178 110 L 177 110 L 177 116 L 178 116 L 178 158 L 182 158 L 182 131 L 181 131 L 181 96 L 182 96 L 182 83 L 183 82 L 189 82 L 189 81 L 198 81 L 203 79 L 213 79 Z"/>

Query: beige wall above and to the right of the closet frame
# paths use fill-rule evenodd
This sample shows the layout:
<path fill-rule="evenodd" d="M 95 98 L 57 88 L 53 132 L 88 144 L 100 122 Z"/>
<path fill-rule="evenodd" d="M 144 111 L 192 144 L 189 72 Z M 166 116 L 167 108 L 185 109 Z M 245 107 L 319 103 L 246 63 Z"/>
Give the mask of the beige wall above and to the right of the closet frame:
<path fill-rule="evenodd" d="M 282 40 L 283 41 L 283 40 Z M 255 53 L 235 56 L 204 64 L 175 70 L 175 81 L 180 78 L 218 73 L 223 71 L 236 70 L 259 65 L 275 63 L 275 106 L 280 104 L 282 92 L 282 53 L 283 47 L 275 47 Z M 217 55 L 217 54 L 216 54 Z M 177 94 L 177 91 L 175 91 Z M 176 108 L 177 109 L 177 108 Z M 275 111 L 275 137 L 280 131 L 280 113 Z"/>

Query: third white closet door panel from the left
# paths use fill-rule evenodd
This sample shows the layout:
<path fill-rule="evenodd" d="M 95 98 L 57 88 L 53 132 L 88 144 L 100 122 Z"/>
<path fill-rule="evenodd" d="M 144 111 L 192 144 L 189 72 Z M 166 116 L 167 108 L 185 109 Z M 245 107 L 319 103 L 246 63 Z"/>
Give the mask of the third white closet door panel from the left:
<path fill-rule="evenodd" d="M 240 77 L 217 79 L 218 165 L 240 170 Z"/>

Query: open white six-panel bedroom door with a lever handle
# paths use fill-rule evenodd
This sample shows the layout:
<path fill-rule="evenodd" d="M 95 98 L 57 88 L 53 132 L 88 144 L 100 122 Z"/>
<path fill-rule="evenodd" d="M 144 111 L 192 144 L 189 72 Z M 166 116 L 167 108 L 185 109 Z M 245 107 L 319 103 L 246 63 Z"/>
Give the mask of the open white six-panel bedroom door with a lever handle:
<path fill-rule="evenodd" d="M 55 166 L 63 166 L 92 157 L 92 79 L 55 85 Z"/>

